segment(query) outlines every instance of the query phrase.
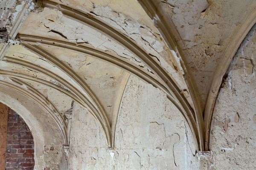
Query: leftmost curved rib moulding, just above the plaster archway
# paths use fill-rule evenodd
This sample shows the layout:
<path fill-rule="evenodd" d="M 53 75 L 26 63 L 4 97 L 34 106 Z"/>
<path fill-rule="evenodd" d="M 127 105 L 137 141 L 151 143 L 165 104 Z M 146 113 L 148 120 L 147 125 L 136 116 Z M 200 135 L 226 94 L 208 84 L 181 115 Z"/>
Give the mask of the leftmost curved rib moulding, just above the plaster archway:
<path fill-rule="evenodd" d="M 67 136 L 68 136 L 67 126 L 64 122 L 63 117 L 56 110 L 56 108 L 53 106 L 53 104 L 51 102 L 49 102 L 49 100 L 47 100 L 44 95 L 42 95 L 39 91 L 37 91 L 35 88 L 30 86 L 26 82 L 23 82 L 23 81 L 21 81 L 20 79 L 17 79 L 17 78 L 11 78 L 11 80 L 13 82 L 19 84 L 19 85 L 26 85 L 28 90 L 26 90 L 24 88 L 20 88 L 17 85 L 13 85 L 12 83 L 5 82 L 5 81 L 2 81 L 2 80 L 0 80 L 0 85 L 8 87 L 8 88 L 12 88 L 15 91 L 31 98 L 36 103 L 38 103 L 38 105 L 41 108 L 43 108 L 47 113 L 50 113 L 50 115 L 52 116 L 52 118 L 54 119 L 56 124 L 58 125 L 59 130 L 61 131 L 61 136 L 63 138 L 64 144 L 67 145 L 68 141 L 69 141 L 69 139 L 67 139 Z M 49 106 L 51 106 L 51 108 Z"/>

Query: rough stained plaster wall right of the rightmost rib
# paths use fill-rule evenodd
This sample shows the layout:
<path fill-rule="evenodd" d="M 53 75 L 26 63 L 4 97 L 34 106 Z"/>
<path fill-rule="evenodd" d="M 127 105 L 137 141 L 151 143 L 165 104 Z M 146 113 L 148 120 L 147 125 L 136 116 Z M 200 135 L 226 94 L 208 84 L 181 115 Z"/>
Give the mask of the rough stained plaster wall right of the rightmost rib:
<path fill-rule="evenodd" d="M 256 27 L 240 45 L 222 83 L 212 118 L 210 170 L 253 170 L 256 155 Z"/>

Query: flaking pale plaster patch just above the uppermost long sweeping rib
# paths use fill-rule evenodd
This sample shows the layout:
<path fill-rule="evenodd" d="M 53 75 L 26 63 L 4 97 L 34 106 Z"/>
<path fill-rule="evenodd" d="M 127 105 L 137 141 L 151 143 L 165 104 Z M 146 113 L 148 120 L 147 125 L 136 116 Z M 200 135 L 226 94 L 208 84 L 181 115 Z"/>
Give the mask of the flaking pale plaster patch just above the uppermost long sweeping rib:
<path fill-rule="evenodd" d="M 137 23 L 137 21 L 130 19 L 124 14 L 112 11 L 109 7 L 93 5 L 93 11 L 91 13 L 95 14 L 97 17 L 100 17 L 101 20 L 104 20 L 106 23 L 130 37 L 131 40 L 142 47 L 167 72 L 172 74 L 175 79 L 179 79 L 176 78 L 179 77 L 180 74 L 177 74 L 177 72 L 183 72 L 183 69 L 181 67 L 178 67 L 178 70 L 175 68 L 175 66 L 179 65 L 179 63 L 176 63 L 177 60 L 175 56 L 172 56 L 173 52 L 171 54 L 166 53 L 165 44 L 158 32 L 152 31 L 147 26 Z M 170 55 L 172 57 L 170 57 Z M 178 80 L 178 83 L 180 83 L 180 80 Z"/>

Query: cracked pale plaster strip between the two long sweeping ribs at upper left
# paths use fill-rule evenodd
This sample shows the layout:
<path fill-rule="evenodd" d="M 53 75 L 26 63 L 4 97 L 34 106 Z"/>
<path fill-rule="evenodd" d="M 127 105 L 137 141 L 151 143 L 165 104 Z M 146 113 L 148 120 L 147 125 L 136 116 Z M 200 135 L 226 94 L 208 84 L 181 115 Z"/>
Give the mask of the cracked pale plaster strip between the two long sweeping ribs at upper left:
<path fill-rule="evenodd" d="M 58 10 L 44 8 L 45 14 L 44 27 L 47 32 L 56 34 L 70 42 L 77 44 L 90 44 L 94 48 L 100 48 L 104 51 L 116 54 L 118 57 L 129 59 L 137 65 L 150 71 L 134 54 L 113 41 L 111 38 L 101 34 L 88 26 L 76 22 L 75 20 L 64 17 Z"/>

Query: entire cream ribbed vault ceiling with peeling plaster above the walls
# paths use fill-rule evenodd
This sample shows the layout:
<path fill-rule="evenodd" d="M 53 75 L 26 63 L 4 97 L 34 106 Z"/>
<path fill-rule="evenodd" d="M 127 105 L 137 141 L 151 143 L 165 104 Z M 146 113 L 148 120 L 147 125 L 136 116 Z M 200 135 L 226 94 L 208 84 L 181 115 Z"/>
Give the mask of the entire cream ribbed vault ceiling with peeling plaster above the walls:
<path fill-rule="evenodd" d="M 135 76 L 175 105 L 195 150 L 209 151 L 221 83 L 256 23 L 256 1 L 233 1 L 5 0 L 1 91 L 49 113 L 67 150 L 78 103 L 113 150 L 122 98 Z M 2 9 L 8 5 L 13 11 Z"/>

